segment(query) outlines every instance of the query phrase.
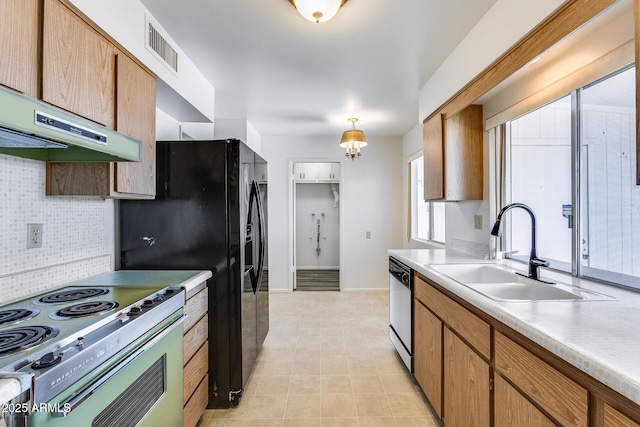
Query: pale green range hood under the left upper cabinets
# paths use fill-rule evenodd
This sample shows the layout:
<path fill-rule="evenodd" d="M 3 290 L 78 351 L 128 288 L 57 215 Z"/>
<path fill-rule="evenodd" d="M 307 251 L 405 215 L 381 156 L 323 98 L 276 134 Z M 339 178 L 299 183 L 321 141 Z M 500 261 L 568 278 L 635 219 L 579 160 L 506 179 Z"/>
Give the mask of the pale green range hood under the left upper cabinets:
<path fill-rule="evenodd" d="M 45 162 L 139 162 L 142 143 L 0 87 L 0 154 Z"/>

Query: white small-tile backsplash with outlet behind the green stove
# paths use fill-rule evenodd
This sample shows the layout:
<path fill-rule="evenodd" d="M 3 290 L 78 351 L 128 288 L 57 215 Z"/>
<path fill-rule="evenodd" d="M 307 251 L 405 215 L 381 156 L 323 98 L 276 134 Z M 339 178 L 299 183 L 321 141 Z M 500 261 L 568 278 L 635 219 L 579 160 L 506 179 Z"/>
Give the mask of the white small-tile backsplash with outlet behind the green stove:
<path fill-rule="evenodd" d="M 113 202 L 45 196 L 45 163 L 0 155 L 0 303 L 111 269 Z M 27 224 L 43 224 L 27 249 Z"/>

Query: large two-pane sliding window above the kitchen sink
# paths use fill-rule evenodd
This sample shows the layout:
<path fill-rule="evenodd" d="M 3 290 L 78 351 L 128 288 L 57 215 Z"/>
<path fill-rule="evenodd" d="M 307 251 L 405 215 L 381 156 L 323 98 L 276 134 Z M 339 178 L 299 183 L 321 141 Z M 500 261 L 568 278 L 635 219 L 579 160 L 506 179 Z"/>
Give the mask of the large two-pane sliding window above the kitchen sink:
<path fill-rule="evenodd" d="M 640 288 L 635 133 L 635 68 L 506 123 L 504 203 L 534 210 L 551 267 Z M 527 260 L 530 219 L 512 212 L 506 249 Z"/>

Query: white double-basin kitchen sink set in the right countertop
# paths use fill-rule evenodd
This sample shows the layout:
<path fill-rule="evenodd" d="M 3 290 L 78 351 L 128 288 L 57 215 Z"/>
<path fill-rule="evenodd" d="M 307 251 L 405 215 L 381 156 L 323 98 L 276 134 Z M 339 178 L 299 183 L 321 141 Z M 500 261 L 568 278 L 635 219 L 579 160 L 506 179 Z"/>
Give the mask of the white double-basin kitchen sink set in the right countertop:
<path fill-rule="evenodd" d="M 613 300 L 608 295 L 564 283 L 548 284 L 495 264 L 430 265 L 433 270 L 496 301 Z"/>

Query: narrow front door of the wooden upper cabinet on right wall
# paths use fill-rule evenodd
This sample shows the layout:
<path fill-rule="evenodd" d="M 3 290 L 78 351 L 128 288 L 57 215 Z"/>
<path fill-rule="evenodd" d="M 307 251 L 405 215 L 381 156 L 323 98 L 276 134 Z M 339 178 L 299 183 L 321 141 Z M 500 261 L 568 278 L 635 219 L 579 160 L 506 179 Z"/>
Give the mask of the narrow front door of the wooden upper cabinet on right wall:
<path fill-rule="evenodd" d="M 437 115 L 422 127 L 424 151 L 424 199 L 444 198 L 444 128 Z"/>

